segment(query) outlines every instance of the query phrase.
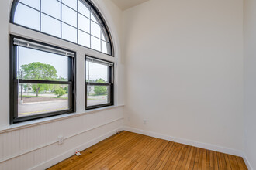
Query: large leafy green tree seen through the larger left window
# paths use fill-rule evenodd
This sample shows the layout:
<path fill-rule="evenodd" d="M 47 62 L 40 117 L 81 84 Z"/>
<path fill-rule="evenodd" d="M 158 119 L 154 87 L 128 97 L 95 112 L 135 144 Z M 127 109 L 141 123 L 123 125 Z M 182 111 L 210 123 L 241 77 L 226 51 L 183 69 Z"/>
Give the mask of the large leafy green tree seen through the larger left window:
<path fill-rule="evenodd" d="M 29 63 L 21 66 L 22 79 L 27 80 L 57 80 L 57 70 L 50 64 L 40 62 Z M 33 84 L 32 89 L 38 93 L 43 90 L 49 90 L 50 85 L 47 84 Z"/>

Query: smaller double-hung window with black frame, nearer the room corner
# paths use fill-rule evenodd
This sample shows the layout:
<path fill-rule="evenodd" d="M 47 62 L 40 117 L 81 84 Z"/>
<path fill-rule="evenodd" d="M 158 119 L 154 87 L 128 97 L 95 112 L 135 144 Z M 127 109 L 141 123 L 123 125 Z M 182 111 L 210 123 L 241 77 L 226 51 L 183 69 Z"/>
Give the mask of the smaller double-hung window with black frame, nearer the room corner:
<path fill-rule="evenodd" d="M 86 56 L 85 110 L 113 105 L 114 64 Z"/>

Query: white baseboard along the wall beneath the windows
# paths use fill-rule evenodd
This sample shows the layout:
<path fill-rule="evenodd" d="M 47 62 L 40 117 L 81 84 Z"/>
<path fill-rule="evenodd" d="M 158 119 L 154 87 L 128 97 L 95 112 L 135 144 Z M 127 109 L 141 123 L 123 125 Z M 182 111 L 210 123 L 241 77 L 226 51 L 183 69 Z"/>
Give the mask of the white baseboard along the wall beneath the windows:
<path fill-rule="evenodd" d="M 106 134 L 103 134 L 102 136 L 92 139 L 92 141 L 88 141 L 87 143 L 80 145 L 78 147 L 72 148 L 69 151 L 65 151 L 63 154 L 61 155 L 57 155 L 54 158 L 51 158 L 50 160 L 48 160 L 47 162 L 43 162 L 40 165 L 36 165 L 35 167 L 31 168 L 33 170 L 41 170 L 41 169 L 46 169 L 46 168 L 50 168 L 53 165 L 56 165 L 58 162 L 63 161 L 66 158 L 71 157 L 72 155 L 74 155 L 75 151 L 83 151 L 86 148 L 91 147 L 92 145 L 95 145 L 97 143 L 99 143 L 100 141 L 103 141 L 106 138 L 109 138 L 110 136 L 112 136 L 113 134 L 116 134 L 117 131 L 122 131 L 123 128 L 117 128 L 113 131 L 109 131 Z"/>

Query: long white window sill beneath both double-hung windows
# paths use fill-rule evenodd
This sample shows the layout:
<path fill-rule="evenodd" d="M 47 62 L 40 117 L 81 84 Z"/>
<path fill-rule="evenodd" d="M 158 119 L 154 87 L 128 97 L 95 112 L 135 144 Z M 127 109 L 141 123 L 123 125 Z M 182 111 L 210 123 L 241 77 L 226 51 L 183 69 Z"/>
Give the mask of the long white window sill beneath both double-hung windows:
<path fill-rule="evenodd" d="M 84 113 L 81 113 L 81 114 L 77 114 L 77 113 L 62 114 L 62 115 L 58 115 L 55 117 L 46 117 L 46 118 L 42 118 L 42 119 L 38 119 L 38 120 L 34 120 L 34 121 L 26 121 L 26 122 L 22 122 L 22 123 L 18 123 L 18 124 L 12 124 L 5 128 L 0 128 L 0 134 L 9 132 L 9 131 L 16 131 L 16 130 L 23 129 L 23 128 L 33 127 L 33 126 L 36 126 L 39 124 L 47 124 L 47 123 L 54 122 L 54 121 L 61 121 L 61 120 L 69 119 L 69 118 L 73 118 L 73 117 L 80 117 L 80 116 L 84 116 L 86 114 L 93 114 L 93 113 L 96 113 L 99 111 L 110 110 L 110 109 L 114 109 L 114 108 L 118 108 L 118 107 L 124 107 L 124 105 L 102 107 L 102 108 L 93 109 L 93 110 L 86 110 Z"/>

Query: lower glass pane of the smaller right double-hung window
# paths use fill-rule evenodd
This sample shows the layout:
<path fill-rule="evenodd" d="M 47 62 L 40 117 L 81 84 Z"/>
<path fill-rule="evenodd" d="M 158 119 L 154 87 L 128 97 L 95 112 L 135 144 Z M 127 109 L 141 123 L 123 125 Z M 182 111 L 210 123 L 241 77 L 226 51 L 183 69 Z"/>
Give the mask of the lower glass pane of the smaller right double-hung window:
<path fill-rule="evenodd" d="M 110 103 L 109 86 L 87 86 L 87 106 Z"/>

